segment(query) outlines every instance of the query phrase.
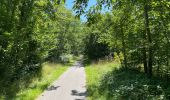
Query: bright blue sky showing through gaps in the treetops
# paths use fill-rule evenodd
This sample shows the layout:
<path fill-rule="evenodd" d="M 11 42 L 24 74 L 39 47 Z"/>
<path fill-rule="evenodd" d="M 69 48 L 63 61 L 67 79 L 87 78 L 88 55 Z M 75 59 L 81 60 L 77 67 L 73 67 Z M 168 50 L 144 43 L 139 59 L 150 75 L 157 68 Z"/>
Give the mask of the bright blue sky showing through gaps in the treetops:
<path fill-rule="evenodd" d="M 93 5 L 95 5 L 95 4 L 96 4 L 96 0 L 89 0 L 87 9 L 90 9 L 90 7 L 93 6 Z M 74 5 L 74 0 L 66 0 L 66 7 L 67 7 L 68 9 L 72 10 L 73 5 Z M 73 11 L 73 10 L 72 10 L 72 11 Z M 74 12 L 74 11 L 73 11 L 73 12 Z M 74 14 L 75 14 L 75 13 L 74 13 Z M 85 15 L 82 15 L 82 16 L 80 17 L 80 19 L 81 19 L 82 21 L 86 21 L 86 20 L 87 20 L 86 17 L 85 17 Z"/>

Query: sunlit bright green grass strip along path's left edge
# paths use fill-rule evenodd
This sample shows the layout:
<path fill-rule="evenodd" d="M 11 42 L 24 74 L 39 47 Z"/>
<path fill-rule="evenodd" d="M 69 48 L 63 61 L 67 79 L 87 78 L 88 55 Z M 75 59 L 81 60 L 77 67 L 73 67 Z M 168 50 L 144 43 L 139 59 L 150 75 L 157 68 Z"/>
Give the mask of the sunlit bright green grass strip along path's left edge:
<path fill-rule="evenodd" d="M 21 90 L 14 100 L 34 100 L 37 98 L 53 81 L 55 81 L 68 65 L 62 64 L 43 64 L 41 79 L 35 79 L 28 88 Z"/>

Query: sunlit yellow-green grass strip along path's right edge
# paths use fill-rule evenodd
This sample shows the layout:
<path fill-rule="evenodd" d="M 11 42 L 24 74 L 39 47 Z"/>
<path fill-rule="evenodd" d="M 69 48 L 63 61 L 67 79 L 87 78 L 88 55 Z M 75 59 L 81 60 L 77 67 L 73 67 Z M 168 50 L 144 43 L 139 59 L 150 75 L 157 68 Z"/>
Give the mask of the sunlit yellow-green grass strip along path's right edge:
<path fill-rule="evenodd" d="M 88 100 L 98 100 L 99 99 L 99 90 L 100 80 L 108 72 L 111 72 L 114 68 L 117 68 L 119 65 L 114 62 L 100 62 L 87 65 L 85 67 L 86 71 L 86 80 L 87 80 L 87 92 Z M 98 99 L 97 99 L 98 98 Z"/>

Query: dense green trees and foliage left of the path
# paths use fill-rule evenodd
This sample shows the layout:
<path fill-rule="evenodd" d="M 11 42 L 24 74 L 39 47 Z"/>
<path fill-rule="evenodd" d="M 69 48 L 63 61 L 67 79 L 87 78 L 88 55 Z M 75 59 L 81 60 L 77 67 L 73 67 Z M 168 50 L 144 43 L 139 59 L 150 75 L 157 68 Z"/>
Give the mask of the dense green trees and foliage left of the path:
<path fill-rule="evenodd" d="M 63 0 L 1 0 L 0 96 L 12 98 L 40 77 L 45 58 L 78 55 L 82 30 Z"/>

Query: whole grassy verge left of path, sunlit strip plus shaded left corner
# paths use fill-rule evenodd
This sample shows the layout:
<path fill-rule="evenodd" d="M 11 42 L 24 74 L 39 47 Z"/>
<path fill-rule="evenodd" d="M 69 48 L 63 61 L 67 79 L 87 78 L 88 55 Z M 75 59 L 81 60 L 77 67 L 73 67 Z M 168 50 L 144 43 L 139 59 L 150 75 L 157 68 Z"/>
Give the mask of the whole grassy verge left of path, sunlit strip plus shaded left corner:
<path fill-rule="evenodd" d="M 69 62 L 45 62 L 42 64 L 41 72 L 31 74 L 29 77 L 16 80 L 4 87 L 0 94 L 0 100 L 34 100 L 58 77 L 72 66 L 81 56 L 70 56 Z M 2 87 L 1 87 L 2 88 Z M 0 88 L 0 89 L 1 89 Z M 3 88 L 2 88 L 3 89 Z"/>

